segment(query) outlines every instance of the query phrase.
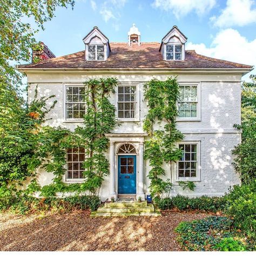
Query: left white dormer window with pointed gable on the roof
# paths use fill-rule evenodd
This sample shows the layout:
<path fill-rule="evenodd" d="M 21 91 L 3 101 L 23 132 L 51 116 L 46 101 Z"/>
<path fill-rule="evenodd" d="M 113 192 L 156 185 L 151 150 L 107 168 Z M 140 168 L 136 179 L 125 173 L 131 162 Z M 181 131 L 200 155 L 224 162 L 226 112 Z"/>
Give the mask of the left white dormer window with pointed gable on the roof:
<path fill-rule="evenodd" d="M 109 57 L 109 39 L 95 26 L 83 39 L 86 60 L 106 60 Z"/>

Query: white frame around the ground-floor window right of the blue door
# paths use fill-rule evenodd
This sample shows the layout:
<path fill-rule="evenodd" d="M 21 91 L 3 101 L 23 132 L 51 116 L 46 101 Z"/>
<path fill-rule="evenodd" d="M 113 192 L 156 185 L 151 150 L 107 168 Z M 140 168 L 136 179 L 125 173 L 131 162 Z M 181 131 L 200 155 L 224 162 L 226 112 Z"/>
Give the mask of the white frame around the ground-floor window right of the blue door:
<path fill-rule="evenodd" d="M 183 144 L 197 145 L 197 170 L 196 177 L 179 177 L 179 161 L 176 164 L 176 182 L 178 181 L 201 181 L 201 142 L 200 140 L 183 140 L 177 143 L 177 147 Z"/>

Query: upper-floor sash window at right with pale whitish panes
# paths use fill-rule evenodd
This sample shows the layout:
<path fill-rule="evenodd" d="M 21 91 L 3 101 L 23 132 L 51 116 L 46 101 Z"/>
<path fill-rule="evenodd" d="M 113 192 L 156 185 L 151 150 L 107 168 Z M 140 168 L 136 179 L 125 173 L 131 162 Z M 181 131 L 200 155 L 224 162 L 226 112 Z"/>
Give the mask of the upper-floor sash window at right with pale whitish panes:
<path fill-rule="evenodd" d="M 199 120 L 199 86 L 197 84 L 179 85 L 178 119 Z"/>

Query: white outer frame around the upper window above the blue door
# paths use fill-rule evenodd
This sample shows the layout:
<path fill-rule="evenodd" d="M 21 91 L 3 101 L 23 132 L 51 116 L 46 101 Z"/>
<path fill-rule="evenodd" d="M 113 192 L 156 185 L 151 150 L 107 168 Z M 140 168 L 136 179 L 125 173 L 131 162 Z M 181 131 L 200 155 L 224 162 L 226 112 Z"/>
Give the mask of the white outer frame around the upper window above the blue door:
<path fill-rule="evenodd" d="M 118 118 L 118 86 L 136 86 L 136 110 L 134 111 L 134 118 Z M 114 93 L 114 102 L 115 102 L 115 107 L 116 107 L 116 117 L 117 117 L 117 122 L 139 122 L 140 117 L 139 117 L 139 110 L 140 110 L 140 94 L 139 94 L 139 88 L 140 88 L 140 83 L 137 82 L 121 82 L 118 83 L 118 85 L 115 88 L 115 93 Z"/>

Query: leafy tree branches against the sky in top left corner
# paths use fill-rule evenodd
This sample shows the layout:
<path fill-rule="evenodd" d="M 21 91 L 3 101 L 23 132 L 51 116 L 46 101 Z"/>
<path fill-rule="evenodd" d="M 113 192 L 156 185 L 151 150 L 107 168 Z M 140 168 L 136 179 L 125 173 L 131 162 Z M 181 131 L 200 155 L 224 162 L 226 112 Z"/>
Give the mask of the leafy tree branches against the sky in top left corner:
<path fill-rule="evenodd" d="M 58 6 L 73 8 L 74 4 L 74 0 L 1 0 L 0 86 L 21 82 L 21 75 L 11 63 L 28 62 L 38 29 L 44 29 L 43 24 L 52 19 Z M 24 16 L 33 17 L 38 28 L 22 22 Z"/>

